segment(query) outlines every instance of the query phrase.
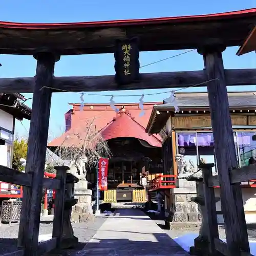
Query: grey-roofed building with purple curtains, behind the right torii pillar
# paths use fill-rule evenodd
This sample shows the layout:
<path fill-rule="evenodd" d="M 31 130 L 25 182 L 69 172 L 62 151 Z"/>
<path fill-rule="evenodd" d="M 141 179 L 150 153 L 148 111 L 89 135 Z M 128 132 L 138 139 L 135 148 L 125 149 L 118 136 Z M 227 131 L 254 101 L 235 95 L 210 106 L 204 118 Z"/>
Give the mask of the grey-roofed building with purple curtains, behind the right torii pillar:
<path fill-rule="evenodd" d="M 228 92 L 228 101 L 238 166 L 243 167 L 256 160 L 256 92 Z M 191 202 L 196 197 L 196 183 L 185 178 L 198 172 L 200 163 L 214 163 L 212 173 L 218 174 L 207 93 L 179 92 L 175 102 L 155 105 L 146 132 L 162 137 L 164 175 L 154 190 L 162 196 L 165 216 L 172 221 L 200 220 L 197 206 Z M 174 188 L 165 183 L 168 175 L 176 177 Z M 246 221 L 255 222 L 256 180 L 241 186 Z M 219 187 L 215 194 L 220 195 Z M 218 221 L 223 222 L 220 202 L 216 208 Z"/>

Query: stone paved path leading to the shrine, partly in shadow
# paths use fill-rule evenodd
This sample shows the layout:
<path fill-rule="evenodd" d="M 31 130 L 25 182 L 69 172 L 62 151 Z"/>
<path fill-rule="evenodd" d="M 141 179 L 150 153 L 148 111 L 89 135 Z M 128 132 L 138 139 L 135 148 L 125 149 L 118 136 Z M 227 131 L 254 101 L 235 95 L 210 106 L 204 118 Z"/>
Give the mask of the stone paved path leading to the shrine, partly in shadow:
<path fill-rule="evenodd" d="M 168 234 L 139 209 L 118 209 L 77 256 L 188 256 Z"/>

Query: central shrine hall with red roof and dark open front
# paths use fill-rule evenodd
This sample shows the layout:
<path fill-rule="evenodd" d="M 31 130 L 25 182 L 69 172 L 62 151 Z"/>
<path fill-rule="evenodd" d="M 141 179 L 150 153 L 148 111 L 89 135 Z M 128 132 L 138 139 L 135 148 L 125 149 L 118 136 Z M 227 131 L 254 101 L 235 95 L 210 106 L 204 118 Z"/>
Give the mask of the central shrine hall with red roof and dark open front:
<path fill-rule="evenodd" d="M 87 120 L 93 120 L 92 125 L 108 143 L 111 151 L 108 169 L 108 190 L 102 191 L 104 202 L 141 202 L 147 201 L 147 186 L 141 179 L 147 177 L 150 181 L 162 173 L 162 148 L 159 135 L 149 136 L 145 128 L 150 118 L 153 106 L 161 102 L 144 103 L 145 115 L 139 116 L 141 109 L 138 103 L 116 104 L 116 113 L 109 104 L 84 104 L 80 110 L 79 104 L 70 104 L 72 109 L 65 114 L 66 132 L 48 144 L 51 151 L 58 147 L 79 146 L 77 132 L 82 138 L 86 133 Z M 96 168 L 87 167 L 89 187 L 97 185 Z"/>

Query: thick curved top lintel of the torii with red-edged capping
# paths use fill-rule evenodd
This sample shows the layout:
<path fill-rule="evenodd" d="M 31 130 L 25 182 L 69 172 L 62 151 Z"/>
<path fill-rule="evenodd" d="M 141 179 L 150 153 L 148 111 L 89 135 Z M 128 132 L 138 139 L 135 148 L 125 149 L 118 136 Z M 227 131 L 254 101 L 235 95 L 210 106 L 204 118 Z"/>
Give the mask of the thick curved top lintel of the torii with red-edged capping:
<path fill-rule="evenodd" d="M 140 51 L 197 49 L 220 43 L 240 46 L 255 24 L 256 8 L 179 17 L 104 22 L 28 24 L 0 22 L 2 54 L 113 53 L 115 41 L 139 36 Z M 209 36 L 210 35 L 210 36 Z"/>

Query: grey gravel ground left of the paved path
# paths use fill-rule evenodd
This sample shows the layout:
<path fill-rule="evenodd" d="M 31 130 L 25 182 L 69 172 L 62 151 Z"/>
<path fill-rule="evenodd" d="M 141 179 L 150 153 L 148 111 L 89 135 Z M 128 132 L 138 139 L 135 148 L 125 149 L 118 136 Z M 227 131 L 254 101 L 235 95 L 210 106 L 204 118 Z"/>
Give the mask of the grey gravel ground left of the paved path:
<path fill-rule="evenodd" d="M 106 218 L 95 218 L 94 222 L 89 223 L 72 223 L 74 234 L 79 239 L 77 250 L 83 246 L 94 236 L 96 231 L 104 223 Z M 40 223 L 39 235 L 52 233 L 52 221 L 42 221 Z M 0 226 L 0 255 L 16 250 L 18 237 L 18 223 L 2 224 Z M 72 251 L 65 251 L 58 255 L 68 256 Z M 74 251 L 73 251 L 74 252 Z M 73 253 L 72 252 L 72 253 Z"/>

